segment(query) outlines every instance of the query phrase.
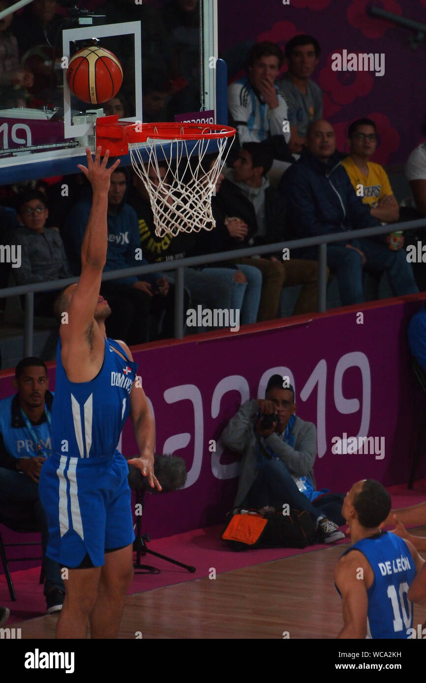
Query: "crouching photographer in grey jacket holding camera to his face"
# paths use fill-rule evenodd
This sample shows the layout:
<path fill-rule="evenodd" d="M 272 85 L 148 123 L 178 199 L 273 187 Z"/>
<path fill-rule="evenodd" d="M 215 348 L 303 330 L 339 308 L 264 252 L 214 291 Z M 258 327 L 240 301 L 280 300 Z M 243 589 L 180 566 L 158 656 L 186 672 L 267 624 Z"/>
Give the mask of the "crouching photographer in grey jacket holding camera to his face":
<path fill-rule="evenodd" d="M 317 456 L 317 430 L 312 422 L 296 417 L 294 390 L 282 387 L 282 376 L 273 375 L 267 383 L 265 400 L 248 400 L 230 419 L 222 432 L 224 445 L 241 454 L 237 496 L 234 507 L 274 507 L 286 503 L 306 510 L 324 543 L 345 534 L 341 507 L 344 496 L 316 490 L 313 465 Z M 263 416 L 275 414 L 270 428 Z"/>

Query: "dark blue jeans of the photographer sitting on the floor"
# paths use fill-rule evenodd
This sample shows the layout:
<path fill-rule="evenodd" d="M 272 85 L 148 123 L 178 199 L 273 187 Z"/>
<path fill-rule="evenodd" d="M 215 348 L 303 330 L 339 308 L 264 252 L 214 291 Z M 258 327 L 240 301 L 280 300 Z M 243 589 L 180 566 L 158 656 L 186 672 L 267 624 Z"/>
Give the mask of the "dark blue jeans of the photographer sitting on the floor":
<path fill-rule="evenodd" d="M 287 465 L 282 460 L 268 460 L 254 479 L 247 505 L 256 508 L 270 505 L 282 510 L 285 503 L 296 510 L 306 510 L 315 521 L 322 515 L 339 526 L 345 522 L 341 516 L 341 494 L 325 494 L 311 503 L 297 488 Z"/>

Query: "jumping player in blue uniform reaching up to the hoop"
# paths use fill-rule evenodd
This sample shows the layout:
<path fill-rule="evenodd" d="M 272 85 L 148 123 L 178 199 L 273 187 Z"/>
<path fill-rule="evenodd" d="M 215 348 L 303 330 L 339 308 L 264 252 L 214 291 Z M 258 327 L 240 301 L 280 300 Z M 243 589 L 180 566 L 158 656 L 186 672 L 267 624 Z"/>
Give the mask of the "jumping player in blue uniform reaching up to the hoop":
<path fill-rule="evenodd" d="M 49 522 L 46 555 L 68 568 L 57 638 L 115 638 L 133 578 L 135 538 L 126 460 L 117 450 L 129 413 L 139 458 L 129 460 L 161 490 L 154 476 L 154 420 L 137 364 L 124 342 L 105 335 L 111 313 L 99 296 L 107 255 L 108 152 L 79 166 L 93 189 L 81 247 L 81 275 L 55 302 L 61 320 L 57 348 L 52 451 L 40 472 L 40 500 Z M 68 578 L 67 578 L 68 575 Z"/>

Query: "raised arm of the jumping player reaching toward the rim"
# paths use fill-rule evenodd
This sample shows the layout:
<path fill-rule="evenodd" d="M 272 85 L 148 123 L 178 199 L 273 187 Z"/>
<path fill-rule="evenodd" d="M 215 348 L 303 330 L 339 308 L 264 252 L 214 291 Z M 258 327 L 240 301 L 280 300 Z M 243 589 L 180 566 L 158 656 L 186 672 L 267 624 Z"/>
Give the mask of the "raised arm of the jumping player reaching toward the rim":
<path fill-rule="evenodd" d="M 117 160 L 107 169 L 109 152 L 101 160 L 101 148 L 94 159 L 86 149 L 88 166 L 79 169 L 90 181 L 93 190 L 92 208 L 81 245 L 81 275 L 68 307 L 68 324 L 61 325 L 61 337 L 76 339 L 88 335 L 98 303 L 102 271 L 107 258 L 107 210 L 111 173 L 117 168 Z"/>

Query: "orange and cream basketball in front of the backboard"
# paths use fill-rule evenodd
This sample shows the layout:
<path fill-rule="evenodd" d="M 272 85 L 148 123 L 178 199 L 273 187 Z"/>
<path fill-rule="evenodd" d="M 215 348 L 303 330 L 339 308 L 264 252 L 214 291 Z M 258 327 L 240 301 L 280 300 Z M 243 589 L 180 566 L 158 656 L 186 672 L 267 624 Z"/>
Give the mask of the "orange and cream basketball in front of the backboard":
<path fill-rule="evenodd" d="M 104 48 L 91 46 L 71 57 L 66 80 L 79 100 L 102 104 L 120 90 L 123 71 L 116 55 Z"/>

